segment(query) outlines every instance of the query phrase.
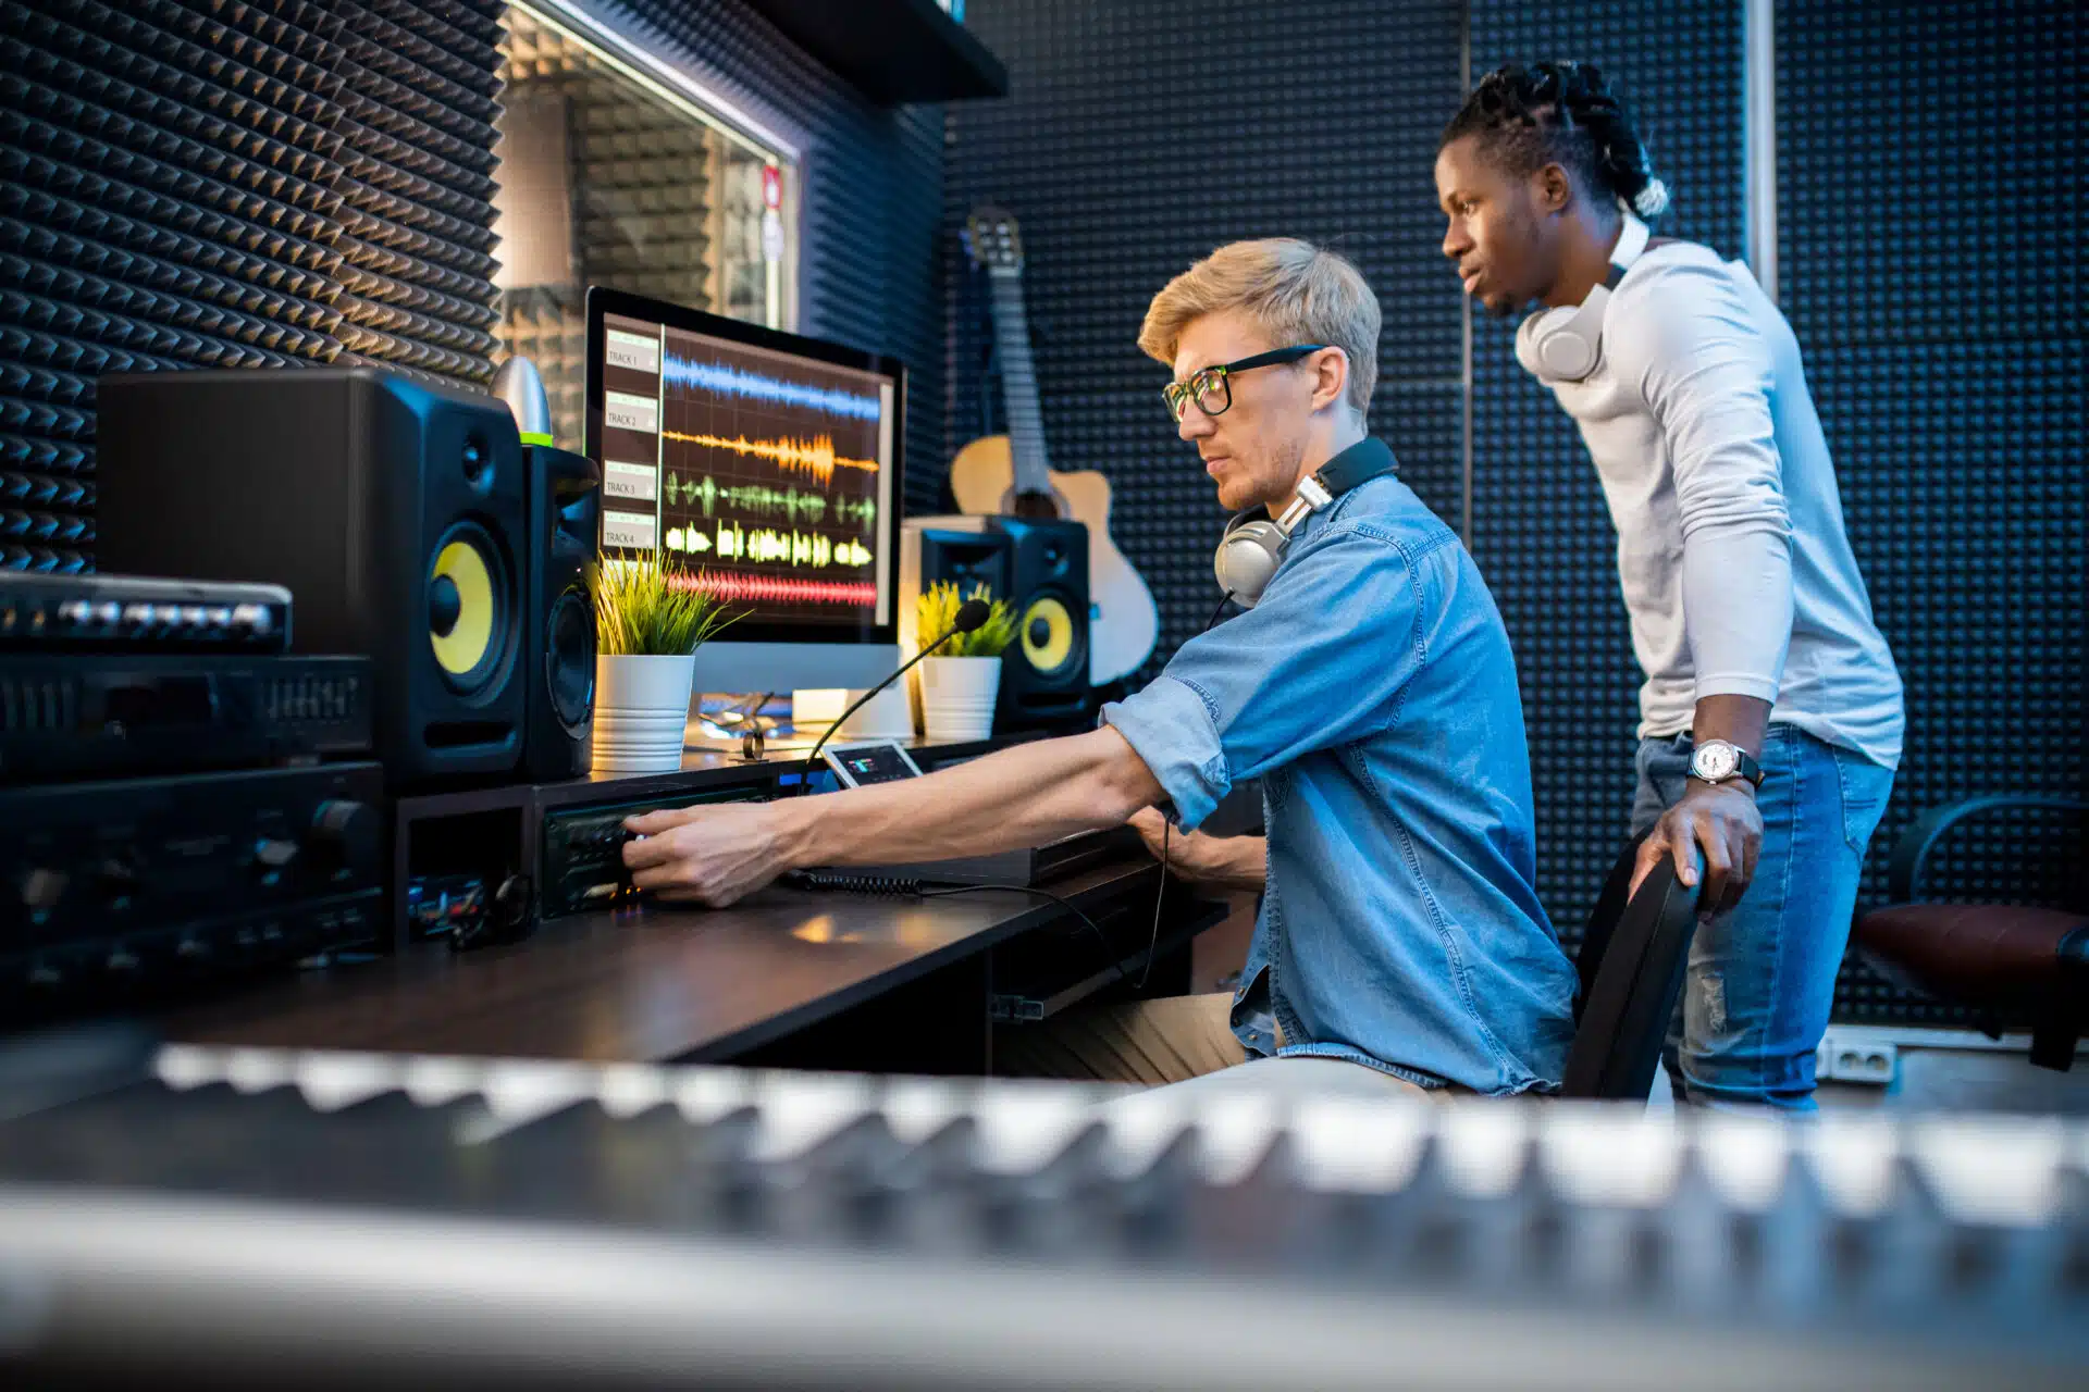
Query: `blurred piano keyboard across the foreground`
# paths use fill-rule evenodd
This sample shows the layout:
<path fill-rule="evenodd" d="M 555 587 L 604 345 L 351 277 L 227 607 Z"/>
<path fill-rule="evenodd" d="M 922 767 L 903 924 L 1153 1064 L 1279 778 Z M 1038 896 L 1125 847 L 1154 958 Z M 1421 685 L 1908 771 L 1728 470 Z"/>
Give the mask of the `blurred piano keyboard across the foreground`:
<path fill-rule="evenodd" d="M 263 1344 L 295 1382 L 2083 1386 L 2089 1129 L 207 1048 L 0 1123 L 0 1369 Z"/>

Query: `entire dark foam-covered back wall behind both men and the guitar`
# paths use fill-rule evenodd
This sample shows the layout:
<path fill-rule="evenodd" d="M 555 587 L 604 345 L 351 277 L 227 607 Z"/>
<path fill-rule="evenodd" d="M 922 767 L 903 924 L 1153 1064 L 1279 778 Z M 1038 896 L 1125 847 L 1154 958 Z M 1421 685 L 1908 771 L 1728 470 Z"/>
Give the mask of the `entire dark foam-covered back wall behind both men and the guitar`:
<path fill-rule="evenodd" d="M 1212 246 L 1295 232 L 1352 253 L 1385 303 L 1372 428 L 1466 541 L 1517 647 L 1540 891 L 1579 937 L 1623 845 L 1634 664 L 1615 532 L 1573 426 L 1485 313 L 1471 349 L 1429 165 L 1473 75 L 1577 56 L 1615 77 L 1673 190 L 1663 232 L 1744 257 L 1740 0 L 1065 4 L 971 0 L 1007 102 L 950 111 L 950 438 L 982 407 L 984 301 L 955 250 L 969 202 L 1030 234 L 1055 467 L 1118 488 L 1118 536 L 1164 611 L 1164 659 L 1207 618 L 1210 484 L 1132 346 L 1151 292 Z M 1469 48 L 1464 48 L 1469 44 Z M 1909 689 L 1909 745 L 1872 843 L 1884 897 L 1916 812 L 1987 791 L 2085 793 L 2083 21 L 2062 0 L 1778 0 L 1780 292 L 1836 453 L 1851 543 Z M 1466 526 L 1469 522 L 1469 526 Z M 1947 895 L 2083 899 L 2081 820 L 2014 816 L 1941 862 Z M 2028 874 L 2028 877 L 2026 877 Z M 1851 1021 L 1964 1023 L 1851 962 Z"/>

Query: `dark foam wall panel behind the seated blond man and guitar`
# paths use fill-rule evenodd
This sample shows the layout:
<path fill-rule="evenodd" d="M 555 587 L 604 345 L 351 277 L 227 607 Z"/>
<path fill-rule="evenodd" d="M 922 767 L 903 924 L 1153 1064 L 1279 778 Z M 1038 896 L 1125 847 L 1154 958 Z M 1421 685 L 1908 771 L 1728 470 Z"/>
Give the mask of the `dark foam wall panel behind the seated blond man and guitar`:
<path fill-rule="evenodd" d="M 1372 428 L 1458 526 L 1458 282 L 1437 250 L 1431 159 L 1458 104 L 1460 10 L 965 6 L 967 27 L 1009 67 L 1009 96 L 950 109 L 950 442 L 999 430 L 984 382 L 986 292 L 957 246 L 969 207 L 992 200 L 1024 230 L 1053 467 L 1111 480 L 1111 532 L 1161 609 L 1143 676 L 1210 618 L 1224 513 L 1168 422 L 1168 371 L 1139 353 L 1139 323 L 1155 290 L 1222 242 L 1304 236 L 1362 267 L 1385 311 Z"/>

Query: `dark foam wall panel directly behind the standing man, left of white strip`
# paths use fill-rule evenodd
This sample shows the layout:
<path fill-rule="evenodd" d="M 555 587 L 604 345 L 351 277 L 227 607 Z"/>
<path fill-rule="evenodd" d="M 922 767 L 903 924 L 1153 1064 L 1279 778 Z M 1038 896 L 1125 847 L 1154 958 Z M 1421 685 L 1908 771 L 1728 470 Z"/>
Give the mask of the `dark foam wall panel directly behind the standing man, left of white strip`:
<path fill-rule="evenodd" d="M 1734 0 L 1479 0 L 1473 79 L 1581 58 L 1617 81 L 1673 205 L 1661 230 L 1742 253 L 1742 6 Z M 1617 532 L 1581 436 L 1515 359 L 1512 321 L 1475 311 L 1473 555 L 1517 647 L 1538 793 L 1538 891 L 1560 939 L 1625 843 L 1640 668 Z"/>

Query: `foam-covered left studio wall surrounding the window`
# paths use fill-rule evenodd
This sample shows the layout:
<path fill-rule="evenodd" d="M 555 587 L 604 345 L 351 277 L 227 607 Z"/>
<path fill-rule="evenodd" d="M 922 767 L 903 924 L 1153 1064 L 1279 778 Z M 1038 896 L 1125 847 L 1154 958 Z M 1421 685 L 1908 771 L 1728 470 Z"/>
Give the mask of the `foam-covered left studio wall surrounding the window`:
<path fill-rule="evenodd" d="M 587 6 L 800 146 L 798 323 L 913 365 L 944 449 L 942 113 L 879 109 L 742 0 Z M 501 0 L 0 0 L 0 566 L 90 568 L 94 378 L 493 376 Z"/>

